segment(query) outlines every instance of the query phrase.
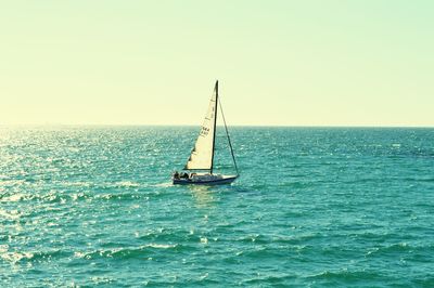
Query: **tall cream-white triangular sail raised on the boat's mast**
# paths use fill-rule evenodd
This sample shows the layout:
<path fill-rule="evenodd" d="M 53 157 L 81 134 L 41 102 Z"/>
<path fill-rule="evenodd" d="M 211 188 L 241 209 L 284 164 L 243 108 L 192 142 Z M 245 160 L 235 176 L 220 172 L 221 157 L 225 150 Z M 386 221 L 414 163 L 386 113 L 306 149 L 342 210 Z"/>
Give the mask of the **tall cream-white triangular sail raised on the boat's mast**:
<path fill-rule="evenodd" d="M 218 83 L 214 88 L 201 132 L 184 169 L 210 170 L 213 168 L 214 130 L 216 129 Z"/>

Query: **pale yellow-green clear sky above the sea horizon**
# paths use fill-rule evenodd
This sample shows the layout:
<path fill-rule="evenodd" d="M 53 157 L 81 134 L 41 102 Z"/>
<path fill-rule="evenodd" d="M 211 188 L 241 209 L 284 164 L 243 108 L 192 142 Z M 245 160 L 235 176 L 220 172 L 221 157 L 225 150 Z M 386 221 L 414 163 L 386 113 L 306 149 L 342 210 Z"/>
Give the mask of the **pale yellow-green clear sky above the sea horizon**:
<path fill-rule="evenodd" d="M 434 1 L 2 1 L 0 125 L 434 126 Z"/>

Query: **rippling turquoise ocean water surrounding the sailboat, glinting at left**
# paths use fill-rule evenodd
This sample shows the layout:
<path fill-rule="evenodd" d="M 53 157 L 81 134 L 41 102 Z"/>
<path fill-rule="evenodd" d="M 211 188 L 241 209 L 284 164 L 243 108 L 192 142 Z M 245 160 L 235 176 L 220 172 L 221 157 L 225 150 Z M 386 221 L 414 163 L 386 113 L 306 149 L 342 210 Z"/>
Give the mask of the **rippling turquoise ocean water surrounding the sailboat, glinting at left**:
<path fill-rule="evenodd" d="M 0 287 L 434 287 L 434 129 L 197 131 L 1 127 Z"/>

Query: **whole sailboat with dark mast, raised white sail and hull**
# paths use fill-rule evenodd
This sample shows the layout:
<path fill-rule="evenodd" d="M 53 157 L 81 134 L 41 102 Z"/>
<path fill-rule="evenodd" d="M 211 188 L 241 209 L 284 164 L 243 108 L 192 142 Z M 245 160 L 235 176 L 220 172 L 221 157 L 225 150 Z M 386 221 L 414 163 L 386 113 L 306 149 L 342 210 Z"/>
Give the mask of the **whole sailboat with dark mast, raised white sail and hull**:
<path fill-rule="evenodd" d="M 220 105 L 218 105 L 220 104 Z M 216 123 L 217 123 L 217 108 L 220 107 L 221 118 L 225 123 L 225 131 L 228 138 L 228 144 L 232 155 L 233 166 L 235 168 L 235 175 L 216 174 L 214 172 L 214 154 L 216 146 Z M 235 156 L 232 149 L 228 127 L 226 126 L 224 110 L 218 97 L 218 80 L 214 87 L 213 96 L 210 97 L 208 109 L 205 115 L 201 131 L 197 140 L 191 150 L 190 157 L 187 160 L 183 172 L 176 171 L 173 174 L 174 184 L 229 184 L 239 176 Z"/>

